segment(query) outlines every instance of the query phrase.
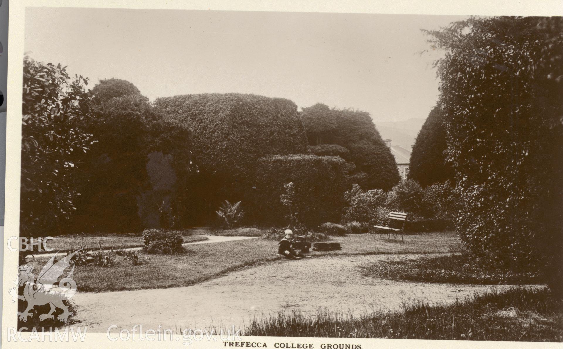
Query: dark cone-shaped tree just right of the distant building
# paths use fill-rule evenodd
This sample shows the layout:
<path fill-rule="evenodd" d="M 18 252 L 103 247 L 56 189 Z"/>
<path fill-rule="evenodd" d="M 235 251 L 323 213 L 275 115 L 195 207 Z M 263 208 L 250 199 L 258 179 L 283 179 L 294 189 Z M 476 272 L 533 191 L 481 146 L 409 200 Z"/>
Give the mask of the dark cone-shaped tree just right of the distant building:
<path fill-rule="evenodd" d="M 422 187 L 454 178 L 453 167 L 446 162 L 444 115 L 435 106 L 418 132 L 410 156 L 409 178 Z"/>

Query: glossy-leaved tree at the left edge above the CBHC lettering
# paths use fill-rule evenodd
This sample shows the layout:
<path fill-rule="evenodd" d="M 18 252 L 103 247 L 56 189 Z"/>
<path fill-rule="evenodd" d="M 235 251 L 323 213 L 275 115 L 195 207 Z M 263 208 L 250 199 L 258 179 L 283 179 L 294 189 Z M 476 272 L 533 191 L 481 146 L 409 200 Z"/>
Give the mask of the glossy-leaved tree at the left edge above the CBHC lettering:
<path fill-rule="evenodd" d="M 70 78 L 66 67 L 24 58 L 20 228 L 22 235 L 61 229 L 77 208 L 77 169 L 93 140 L 88 78 Z"/>

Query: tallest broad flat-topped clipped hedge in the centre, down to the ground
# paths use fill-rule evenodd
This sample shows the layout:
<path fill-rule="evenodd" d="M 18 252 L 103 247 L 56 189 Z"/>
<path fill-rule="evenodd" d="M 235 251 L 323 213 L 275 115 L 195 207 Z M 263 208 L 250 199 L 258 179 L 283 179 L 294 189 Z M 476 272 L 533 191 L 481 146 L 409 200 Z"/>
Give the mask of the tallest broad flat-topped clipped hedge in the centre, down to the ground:
<path fill-rule="evenodd" d="M 258 158 L 307 151 L 297 106 L 288 99 L 189 94 L 157 98 L 155 108 L 184 124 L 191 134 L 190 163 L 197 173 L 183 188 L 190 193 L 186 209 L 193 224 L 208 223 L 223 200 L 237 202 L 253 190 Z"/>

